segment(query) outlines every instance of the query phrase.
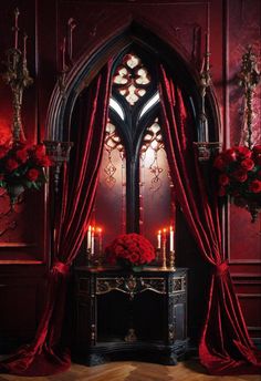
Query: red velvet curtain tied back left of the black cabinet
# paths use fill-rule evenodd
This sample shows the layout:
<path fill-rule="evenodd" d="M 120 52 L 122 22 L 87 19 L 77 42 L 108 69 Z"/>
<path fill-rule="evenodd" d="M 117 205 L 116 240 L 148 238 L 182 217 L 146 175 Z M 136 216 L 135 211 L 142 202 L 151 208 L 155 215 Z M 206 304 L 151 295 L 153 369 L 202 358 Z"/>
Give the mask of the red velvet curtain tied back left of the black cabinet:
<path fill-rule="evenodd" d="M 54 260 L 48 279 L 46 302 L 33 342 L 0 363 L 0 371 L 45 375 L 66 370 L 70 353 L 60 346 L 70 266 L 79 253 L 93 206 L 102 159 L 111 91 L 109 62 L 81 99 L 73 167 L 64 171 L 55 219 Z"/>

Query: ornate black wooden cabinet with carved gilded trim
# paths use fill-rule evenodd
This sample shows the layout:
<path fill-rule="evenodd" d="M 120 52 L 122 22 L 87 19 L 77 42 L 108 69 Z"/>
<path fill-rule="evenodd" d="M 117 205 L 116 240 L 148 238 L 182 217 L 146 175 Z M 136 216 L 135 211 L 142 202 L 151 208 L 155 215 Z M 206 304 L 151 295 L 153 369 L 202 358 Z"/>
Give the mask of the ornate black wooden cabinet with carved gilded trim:
<path fill-rule="evenodd" d="M 73 359 L 176 364 L 187 351 L 187 270 L 75 268 Z"/>

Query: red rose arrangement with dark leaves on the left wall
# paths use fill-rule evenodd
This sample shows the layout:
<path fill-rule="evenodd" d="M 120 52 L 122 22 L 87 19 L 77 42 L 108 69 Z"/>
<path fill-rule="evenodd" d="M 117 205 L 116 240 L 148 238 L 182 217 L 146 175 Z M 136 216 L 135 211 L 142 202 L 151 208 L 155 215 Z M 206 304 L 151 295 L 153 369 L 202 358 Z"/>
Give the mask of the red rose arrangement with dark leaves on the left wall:
<path fill-rule="evenodd" d="M 44 167 L 51 161 L 43 144 L 27 145 L 21 142 L 0 145 L 0 187 L 7 189 L 11 203 L 15 203 L 18 189 L 40 189 L 46 182 Z"/>

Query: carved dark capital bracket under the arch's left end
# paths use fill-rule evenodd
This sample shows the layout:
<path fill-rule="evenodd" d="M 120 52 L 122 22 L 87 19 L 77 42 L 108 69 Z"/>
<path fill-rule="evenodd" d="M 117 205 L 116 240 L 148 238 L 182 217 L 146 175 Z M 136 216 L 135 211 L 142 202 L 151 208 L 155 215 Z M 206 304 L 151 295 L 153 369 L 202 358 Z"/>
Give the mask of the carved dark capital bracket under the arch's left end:
<path fill-rule="evenodd" d="M 60 142 L 60 141 L 43 141 L 46 147 L 46 154 L 50 159 L 54 163 L 54 192 L 59 193 L 60 173 L 63 163 L 69 162 L 70 151 L 73 146 L 72 142 Z"/>

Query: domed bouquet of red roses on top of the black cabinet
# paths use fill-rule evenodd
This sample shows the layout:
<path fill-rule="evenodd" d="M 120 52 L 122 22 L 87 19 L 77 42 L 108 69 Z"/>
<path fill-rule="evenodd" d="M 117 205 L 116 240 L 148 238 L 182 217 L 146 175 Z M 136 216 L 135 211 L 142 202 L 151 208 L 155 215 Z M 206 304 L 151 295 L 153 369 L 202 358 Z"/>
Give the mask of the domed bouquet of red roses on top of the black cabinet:
<path fill-rule="evenodd" d="M 105 248 L 107 261 L 112 265 L 125 264 L 140 266 L 155 259 L 155 249 L 144 236 L 130 233 L 116 237 Z"/>

